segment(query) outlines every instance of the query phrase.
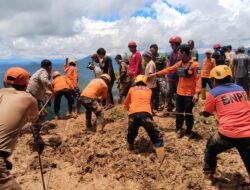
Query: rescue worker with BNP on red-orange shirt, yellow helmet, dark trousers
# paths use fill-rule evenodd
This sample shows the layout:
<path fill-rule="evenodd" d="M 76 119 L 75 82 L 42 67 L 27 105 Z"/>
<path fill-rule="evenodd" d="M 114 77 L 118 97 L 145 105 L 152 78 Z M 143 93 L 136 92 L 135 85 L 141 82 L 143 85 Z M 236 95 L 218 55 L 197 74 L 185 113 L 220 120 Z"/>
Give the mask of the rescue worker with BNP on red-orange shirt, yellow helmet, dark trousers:
<path fill-rule="evenodd" d="M 232 71 L 219 65 L 210 72 L 213 88 L 207 93 L 203 112 L 209 117 L 216 112 L 219 120 L 218 132 L 207 141 L 204 173 L 212 178 L 216 170 L 217 155 L 237 148 L 250 176 L 250 105 L 244 89 L 232 81 Z"/>

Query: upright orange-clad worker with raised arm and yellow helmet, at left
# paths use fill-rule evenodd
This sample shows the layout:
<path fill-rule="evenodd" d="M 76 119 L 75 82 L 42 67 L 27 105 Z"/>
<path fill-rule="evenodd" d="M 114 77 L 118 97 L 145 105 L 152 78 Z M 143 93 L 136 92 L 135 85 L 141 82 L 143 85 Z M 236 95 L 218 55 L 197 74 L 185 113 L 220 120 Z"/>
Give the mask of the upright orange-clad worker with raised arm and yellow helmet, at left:
<path fill-rule="evenodd" d="M 63 66 L 63 71 L 66 74 L 66 77 L 69 78 L 69 80 L 71 81 L 72 85 L 73 85 L 73 97 L 74 99 L 78 99 L 79 95 L 80 95 L 80 90 L 78 88 L 78 70 L 76 67 L 76 59 L 70 59 L 69 63 L 64 64 Z M 74 104 L 74 101 L 73 101 Z"/>

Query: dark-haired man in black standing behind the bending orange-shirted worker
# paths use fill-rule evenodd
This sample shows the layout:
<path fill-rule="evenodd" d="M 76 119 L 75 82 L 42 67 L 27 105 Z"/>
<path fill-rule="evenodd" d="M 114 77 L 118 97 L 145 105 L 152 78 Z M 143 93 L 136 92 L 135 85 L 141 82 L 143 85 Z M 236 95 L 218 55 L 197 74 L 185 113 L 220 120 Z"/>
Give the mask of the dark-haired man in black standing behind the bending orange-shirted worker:
<path fill-rule="evenodd" d="M 112 88 L 115 82 L 115 72 L 113 69 L 112 59 L 109 56 L 106 56 L 106 50 L 104 48 L 99 48 L 96 53 L 99 58 L 99 64 L 102 70 L 102 74 L 108 74 L 111 77 L 111 81 L 109 82 L 109 86 L 108 86 L 109 93 L 108 93 L 106 106 L 105 106 L 105 109 L 109 109 L 114 106 Z"/>

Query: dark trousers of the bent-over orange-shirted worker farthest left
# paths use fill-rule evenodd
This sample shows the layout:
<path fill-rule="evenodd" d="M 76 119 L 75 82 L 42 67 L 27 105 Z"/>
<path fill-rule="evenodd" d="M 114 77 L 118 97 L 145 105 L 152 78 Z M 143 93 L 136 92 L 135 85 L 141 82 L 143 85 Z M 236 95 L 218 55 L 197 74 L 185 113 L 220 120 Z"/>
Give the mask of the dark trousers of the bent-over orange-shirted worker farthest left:
<path fill-rule="evenodd" d="M 55 111 L 56 115 L 59 114 L 59 112 L 60 112 L 62 96 L 64 96 L 67 99 L 68 111 L 69 111 L 69 113 L 72 113 L 73 97 L 71 94 L 71 90 L 70 89 L 63 89 L 63 90 L 60 90 L 59 92 L 56 92 L 56 94 L 55 94 L 54 111 Z"/>

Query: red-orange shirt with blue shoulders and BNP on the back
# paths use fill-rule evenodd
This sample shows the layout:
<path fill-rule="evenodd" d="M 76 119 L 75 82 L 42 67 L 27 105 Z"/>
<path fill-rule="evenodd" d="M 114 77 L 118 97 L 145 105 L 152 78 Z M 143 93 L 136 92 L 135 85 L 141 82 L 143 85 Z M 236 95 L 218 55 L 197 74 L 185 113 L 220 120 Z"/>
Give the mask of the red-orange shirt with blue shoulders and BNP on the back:
<path fill-rule="evenodd" d="M 242 87 L 228 83 L 212 89 L 207 93 L 204 111 L 216 112 L 222 135 L 250 137 L 250 105 Z"/>

